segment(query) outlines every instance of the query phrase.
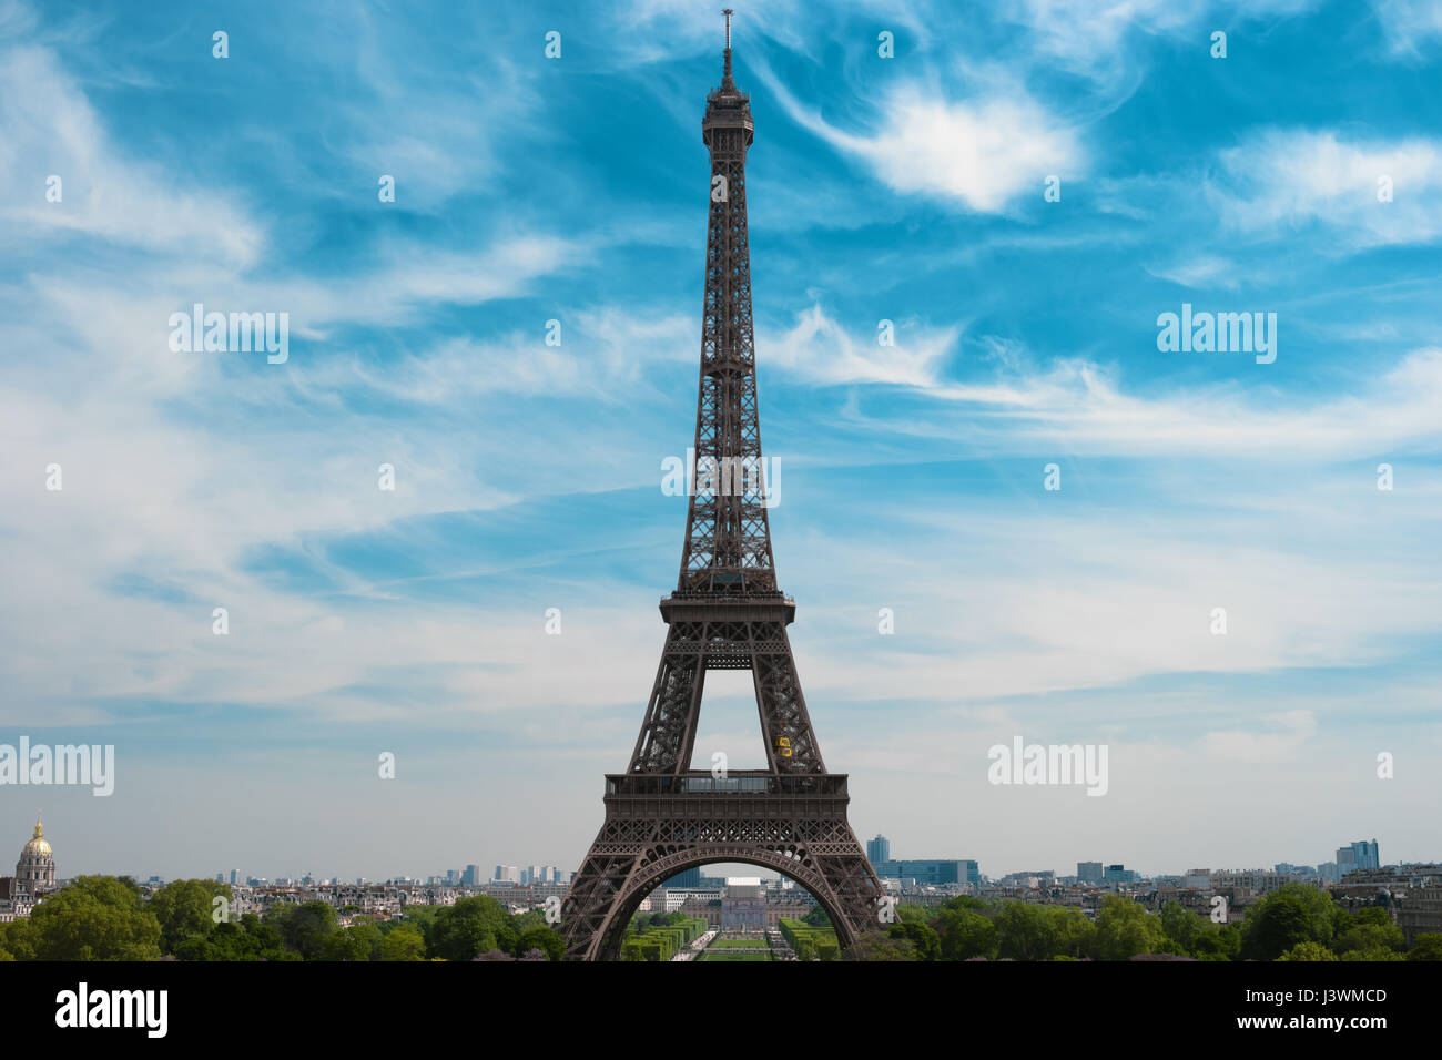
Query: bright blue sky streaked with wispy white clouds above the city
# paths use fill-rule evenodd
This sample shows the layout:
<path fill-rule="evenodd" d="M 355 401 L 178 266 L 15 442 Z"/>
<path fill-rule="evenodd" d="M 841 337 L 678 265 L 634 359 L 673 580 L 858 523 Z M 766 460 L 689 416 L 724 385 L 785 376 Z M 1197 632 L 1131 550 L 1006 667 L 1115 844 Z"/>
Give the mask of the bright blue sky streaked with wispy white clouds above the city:
<path fill-rule="evenodd" d="M 117 748 L 108 799 L 0 789 L 62 875 L 574 868 L 600 823 L 681 555 L 720 16 L 466 7 L 0 1 L 0 741 Z M 771 532 L 858 834 L 1442 857 L 1439 63 L 1432 3 L 737 10 Z M 172 352 L 196 301 L 288 361 Z M 1184 303 L 1276 313 L 1275 363 L 1159 352 Z M 727 678 L 698 754 L 758 764 Z M 1109 793 L 988 785 L 1017 734 L 1107 744 Z"/>

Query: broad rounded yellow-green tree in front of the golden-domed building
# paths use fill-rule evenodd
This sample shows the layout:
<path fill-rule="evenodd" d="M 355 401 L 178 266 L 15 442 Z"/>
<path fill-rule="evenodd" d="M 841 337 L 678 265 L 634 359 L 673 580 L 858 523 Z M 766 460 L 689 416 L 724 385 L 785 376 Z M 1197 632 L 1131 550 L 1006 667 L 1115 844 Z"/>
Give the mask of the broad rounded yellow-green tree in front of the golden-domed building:
<path fill-rule="evenodd" d="M 30 913 L 23 939 L 36 960 L 157 960 L 160 923 L 140 887 L 112 875 L 82 875 Z"/>

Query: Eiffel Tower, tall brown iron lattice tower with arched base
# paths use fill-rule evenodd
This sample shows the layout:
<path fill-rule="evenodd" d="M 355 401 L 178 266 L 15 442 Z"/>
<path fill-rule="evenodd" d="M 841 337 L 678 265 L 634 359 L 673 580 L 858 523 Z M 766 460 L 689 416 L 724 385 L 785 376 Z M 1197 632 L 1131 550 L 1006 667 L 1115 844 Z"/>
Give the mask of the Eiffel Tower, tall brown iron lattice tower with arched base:
<path fill-rule="evenodd" d="M 786 636 L 796 603 L 776 587 L 746 226 L 753 124 L 750 95 L 731 79 L 725 16 L 721 87 L 707 97 L 701 123 L 711 212 L 686 542 L 676 590 L 660 601 L 666 646 L 630 766 L 606 777 L 606 822 L 561 907 L 572 960 L 616 960 L 646 894 L 717 861 L 795 880 L 831 916 L 842 946 L 877 924 L 884 894 L 846 823 L 846 776 L 822 763 Z M 689 769 L 711 669 L 751 671 L 767 769 Z"/>

